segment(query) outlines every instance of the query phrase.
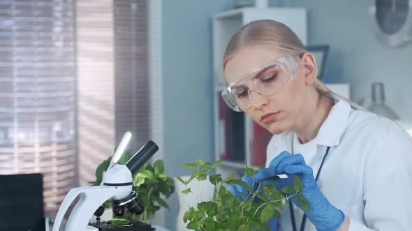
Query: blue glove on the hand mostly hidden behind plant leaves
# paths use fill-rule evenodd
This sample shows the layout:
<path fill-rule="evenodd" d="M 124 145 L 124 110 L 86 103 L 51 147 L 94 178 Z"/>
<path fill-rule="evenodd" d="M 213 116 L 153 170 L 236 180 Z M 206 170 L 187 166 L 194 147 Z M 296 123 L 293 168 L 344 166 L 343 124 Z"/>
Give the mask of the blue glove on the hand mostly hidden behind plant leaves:
<path fill-rule="evenodd" d="M 253 184 L 253 182 L 256 182 L 255 180 L 253 180 L 251 177 L 247 177 L 246 175 L 244 175 L 242 177 L 242 181 L 246 182 L 251 189 L 253 190 L 257 190 L 258 188 L 258 184 Z M 261 181 L 263 185 L 267 185 L 270 184 L 270 180 L 264 180 Z M 256 182 L 257 183 L 257 182 Z M 230 193 L 233 194 L 233 196 L 240 198 L 240 200 L 244 200 L 244 198 L 246 196 L 249 195 L 249 191 L 247 191 L 247 189 L 244 188 L 244 186 L 241 185 L 230 185 L 228 186 L 228 191 L 230 191 Z M 250 196 L 249 196 L 250 198 Z M 255 197 L 253 199 L 253 201 L 259 200 L 258 197 Z M 279 221 L 277 218 L 272 217 L 270 218 L 269 221 L 267 221 L 266 223 L 267 227 L 269 227 L 270 231 L 278 231 L 279 230 Z"/>

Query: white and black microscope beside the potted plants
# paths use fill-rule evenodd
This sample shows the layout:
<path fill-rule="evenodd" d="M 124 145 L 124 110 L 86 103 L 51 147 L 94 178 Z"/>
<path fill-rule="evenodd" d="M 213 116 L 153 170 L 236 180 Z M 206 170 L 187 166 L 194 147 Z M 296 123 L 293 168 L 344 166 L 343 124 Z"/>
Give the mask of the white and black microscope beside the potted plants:
<path fill-rule="evenodd" d="M 138 200 L 138 195 L 133 191 L 132 175 L 142 167 L 153 154 L 159 150 L 156 143 L 149 141 L 146 143 L 133 157 L 125 164 L 117 164 L 122 156 L 128 141 L 130 141 L 131 133 L 126 132 L 122 141 L 113 154 L 112 161 L 108 170 L 103 175 L 103 180 L 100 186 L 87 186 L 73 188 L 64 198 L 59 212 L 54 220 L 52 231 L 59 231 L 64 214 L 68 211 L 71 204 L 76 198 L 79 198 L 75 203 L 66 223 L 65 231 L 150 231 L 151 226 L 146 223 L 136 221 L 130 226 L 115 226 L 108 223 L 101 223 L 99 216 L 104 212 L 101 205 L 106 200 L 112 200 L 112 210 L 115 216 L 121 216 L 124 209 L 134 214 L 142 214 L 144 207 Z M 91 217 L 96 216 L 96 222 L 91 223 Z"/>

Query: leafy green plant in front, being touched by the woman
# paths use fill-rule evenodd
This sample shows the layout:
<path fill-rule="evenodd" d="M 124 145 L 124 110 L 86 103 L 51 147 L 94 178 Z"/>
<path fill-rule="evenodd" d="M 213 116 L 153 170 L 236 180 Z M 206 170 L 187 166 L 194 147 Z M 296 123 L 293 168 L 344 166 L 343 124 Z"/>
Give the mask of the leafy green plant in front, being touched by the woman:
<path fill-rule="evenodd" d="M 213 170 L 219 166 L 223 160 L 216 163 L 205 163 L 202 159 L 198 159 L 193 164 L 185 164 L 185 168 L 194 168 L 189 180 L 183 180 L 177 177 L 179 182 L 186 186 L 182 191 L 184 194 L 191 193 L 188 184 L 192 180 L 207 180 L 214 184 L 215 198 L 212 201 L 204 201 L 198 203 L 197 207 L 189 207 L 184 214 L 184 222 L 189 221 L 187 228 L 191 230 L 269 230 L 266 223 L 272 216 L 280 218 L 280 210 L 283 208 L 283 202 L 289 198 L 296 197 L 300 205 L 305 209 L 309 209 L 309 204 L 300 194 L 303 184 L 299 177 L 295 176 L 293 186 L 286 186 L 283 189 L 277 190 L 273 184 L 264 186 L 258 184 L 256 191 L 251 191 L 251 188 L 242 180 L 233 179 L 235 174 L 229 175 L 223 180 L 221 174 L 214 174 Z M 258 170 L 253 168 L 242 168 L 247 176 L 257 173 Z M 273 180 L 279 177 L 273 177 Z M 248 191 L 251 191 L 247 196 L 248 199 L 240 200 L 226 190 L 225 185 L 240 184 Z M 255 200 L 258 199 L 258 200 Z"/>

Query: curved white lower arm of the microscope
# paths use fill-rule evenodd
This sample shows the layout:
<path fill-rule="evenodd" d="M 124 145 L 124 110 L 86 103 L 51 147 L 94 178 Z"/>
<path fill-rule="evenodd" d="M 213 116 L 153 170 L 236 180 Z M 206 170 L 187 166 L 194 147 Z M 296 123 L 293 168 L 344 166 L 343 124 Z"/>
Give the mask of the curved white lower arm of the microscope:
<path fill-rule="evenodd" d="M 59 212 L 57 212 L 52 231 L 59 231 L 64 214 L 66 214 L 67 209 L 78 196 L 80 196 L 80 200 L 73 208 L 73 211 L 68 218 L 65 230 L 90 230 L 87 229 L 87 226 L 89 225 L 91 214 L 93 214 L 96 209 L 103 204 L 103 202 L 109 200 L 113 196 L 116 196 L 117 193 L 119 193 L 119 189 L 115 189 L 113 186 L 89 186 L 71 189 L 71 191 L 67 193 L 66 198 L 64 198 L 64 201 L 61 203 L 61 207 Z"/>

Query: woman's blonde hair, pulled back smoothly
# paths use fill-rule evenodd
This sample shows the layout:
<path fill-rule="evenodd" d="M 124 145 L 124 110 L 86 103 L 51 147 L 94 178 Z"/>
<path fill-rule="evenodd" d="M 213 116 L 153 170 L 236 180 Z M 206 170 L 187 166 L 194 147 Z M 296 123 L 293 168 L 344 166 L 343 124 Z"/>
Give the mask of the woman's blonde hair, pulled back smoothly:
<path fill-rule="evenodd" d="M 240 31 L 232 36 L 223 55 L 223 69 L 239 49 L 250 45 L 269 45 L 290 55 L 308 52 L 302 41 L 285 24 L 273 20 L 258 20 L 244 25 Z M 332 104 L 336 102 L 337 98 L 334 97 L 336 94 L 332 93 L 319 79 L 314 81 L 314 88 L 319 95 Z"/>

